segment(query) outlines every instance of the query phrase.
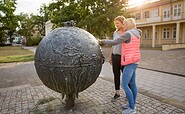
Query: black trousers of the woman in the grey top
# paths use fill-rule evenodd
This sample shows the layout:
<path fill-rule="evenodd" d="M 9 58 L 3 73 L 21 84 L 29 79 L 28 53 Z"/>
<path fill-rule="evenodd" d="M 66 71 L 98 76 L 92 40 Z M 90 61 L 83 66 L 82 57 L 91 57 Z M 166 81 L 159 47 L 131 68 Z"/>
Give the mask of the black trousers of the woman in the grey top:
<path fill-rule="evenodd" d="M 121 55 L 112 54 L 112 70 L 114 74 L 115 90 L 120 90 L 120 75 L 123 71 L 123 66 L 121 66 Z"/>

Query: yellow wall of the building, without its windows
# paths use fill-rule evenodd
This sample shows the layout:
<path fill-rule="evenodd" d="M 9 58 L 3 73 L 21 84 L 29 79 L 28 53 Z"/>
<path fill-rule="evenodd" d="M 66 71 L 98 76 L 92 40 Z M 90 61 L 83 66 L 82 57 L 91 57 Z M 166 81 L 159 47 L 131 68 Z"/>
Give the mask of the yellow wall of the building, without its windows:
<path fill-rule="evenodd" d="M 182 18 L 181 19 L 175 19 L 174 18 L 174 6 L 177 4 L 181 4 L 181 13 L 182 13 Z M 164 20 L 164 8 L 169 8 L 170 9 L 170 20 Z M 159 21 L 151 21 L 153 19 L 153 11 L 154 9 L 158 9 L 158 16 L 160 18 Z M 150 12 L 149 18 L 145 19 L 145 11 Z M 179 43 L 185 43 L 185 0 L 178 0 L 178 1 L 172 1 L 170 0 L 161 0 L 158 3 L 154 3 L 151 5 L 144 5 L 140 6 L 140 8 L 133 8 L 129 10 L 129 13 L 133 15 L 134 17 L 136 16 L 137 13 L 141 14 L 140 20 L 136 20 L 136 23 L 143 31 L 143 35 L 141 38 L 141 46 L 149 46 L 152 47 L 152 26 L 155 25 L 156 27 L 156 32 L 157 32 L 157 38 L 155 38 L 155 47 L 161 47 L 163 44 L 172 44 L 176 43 L 176 39 L 172 38 L 173 37 L 173 28 L 177 27 L 177 23 L 180 23 L 180 31 L 179 31 Z M 150 19 L 151 18 L 151 19 Z M 164 28 L 169 28 L 169 38 L 164 39 L 163 38 L 163 31 Z M 144 38 L 144 31 L 149 29 L 150 30 L 150 38 L 145 39 Z M 176 28 L 177 31 L 177 28 Z M 178 40 L 177 40 L 178 41 Z"/>

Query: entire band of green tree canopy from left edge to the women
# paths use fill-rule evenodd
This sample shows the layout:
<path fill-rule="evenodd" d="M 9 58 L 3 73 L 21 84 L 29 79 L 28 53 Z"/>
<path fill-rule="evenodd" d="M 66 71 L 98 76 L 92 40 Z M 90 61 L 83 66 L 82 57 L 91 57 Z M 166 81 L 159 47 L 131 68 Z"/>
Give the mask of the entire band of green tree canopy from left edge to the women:
<path fill-rule="evenodd" d="M 126 3 L 127 0 L 53 0 L 49 5 L 42 4 L 39 15 L 15 15 L 16 0 L 1 0 L 0 42 L 6 35 L 11 38 L 16 29 L 27 39 L 36 30 L 42 37 L 48 20 L 54 24 L 53 29 L 61 27 L 62 22 L 74 20 L 77 27 L 100 39 L 112 36 L 114 18 L 118 15 L 128 16 L 124 10 Z"/>

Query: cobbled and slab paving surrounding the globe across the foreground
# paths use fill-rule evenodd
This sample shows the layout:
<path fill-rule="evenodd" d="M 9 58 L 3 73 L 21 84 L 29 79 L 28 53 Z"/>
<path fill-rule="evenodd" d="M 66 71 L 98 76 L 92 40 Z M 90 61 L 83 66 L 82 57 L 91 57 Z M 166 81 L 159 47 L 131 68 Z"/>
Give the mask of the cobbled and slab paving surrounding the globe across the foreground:
<path fill-rule="evenodd" d="M 79 94 L 75 107 L 66 111 L 61 95 L 39 80 L 33 62 L 0 67 L 0 114 L 121 114 L 125 94 L 114 94 L 111 65 L 105 62 L 97 81 Z M 137 69 L 137 114 L 185 114 L 185 78 Z M 42 104 L 43 101 L 52 99 Z M 42 102 L 41 102 L 42 101 Z"/>

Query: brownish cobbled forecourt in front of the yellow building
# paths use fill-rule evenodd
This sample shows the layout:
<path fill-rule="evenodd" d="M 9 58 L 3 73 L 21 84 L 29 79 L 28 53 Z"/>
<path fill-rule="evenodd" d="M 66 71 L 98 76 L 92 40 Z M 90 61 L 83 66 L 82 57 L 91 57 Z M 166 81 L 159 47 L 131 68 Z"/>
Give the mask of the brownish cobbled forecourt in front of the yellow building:
<path fill-rule="evenodd" d="M 104 47 L 102 50 L 108 60 L 111 48 Z M 185 49 L 168 51 L 142 49 L 139 67 L 185 77 Z"/>

